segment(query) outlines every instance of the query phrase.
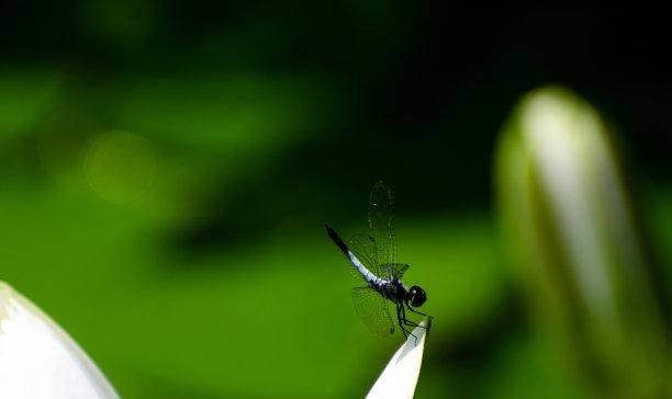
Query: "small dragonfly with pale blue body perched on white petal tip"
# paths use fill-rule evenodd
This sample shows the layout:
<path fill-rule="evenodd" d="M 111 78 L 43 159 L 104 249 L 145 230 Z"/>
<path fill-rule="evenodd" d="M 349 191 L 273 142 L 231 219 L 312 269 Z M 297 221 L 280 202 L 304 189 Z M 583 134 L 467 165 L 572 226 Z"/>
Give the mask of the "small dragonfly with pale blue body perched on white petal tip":
<path fill-rule="evenodd" d="M 406 310 L 427 317 L 416 309 L 425 304 L 427 294 L 417 285 L 407 288 L 401 281 L 410 265 L 396 262 L 393 206 L 392 190 L 380 181 L 373 184 L 369 197 L 371 235 L 355 235 L 346 242 L 331 226 L 325 225 L 325 228 L 352 266 L 352 275 L 366 284 L 352 288 L 352 301 L 367 328 L 376 335 L 392 334 L 394 322 L 389 309 L 392 303 L 396 310 L 396 322 L 407 339 L 408 335 L 415 337 L 408 328 L 419 326 L 426 329 L 410 320 Z"/>

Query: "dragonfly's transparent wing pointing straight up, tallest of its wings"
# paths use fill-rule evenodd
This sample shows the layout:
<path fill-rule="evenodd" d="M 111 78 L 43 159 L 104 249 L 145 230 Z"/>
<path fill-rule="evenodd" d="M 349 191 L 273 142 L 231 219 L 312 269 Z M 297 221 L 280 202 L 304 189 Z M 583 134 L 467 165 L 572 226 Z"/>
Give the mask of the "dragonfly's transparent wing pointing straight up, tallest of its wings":
<path fill-rule="evenodd" d="M 394 238 L 394 196 L 385 182 L 378 182 L 369 197 L 369 225 L 378 248 L 381 263 L 396 263 L 396 240 Z"/>

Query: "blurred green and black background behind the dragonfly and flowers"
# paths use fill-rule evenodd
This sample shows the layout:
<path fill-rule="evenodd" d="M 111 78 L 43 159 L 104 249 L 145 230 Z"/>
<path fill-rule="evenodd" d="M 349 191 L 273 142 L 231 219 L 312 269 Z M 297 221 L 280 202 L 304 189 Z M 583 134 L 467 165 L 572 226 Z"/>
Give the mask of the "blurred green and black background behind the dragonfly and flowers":
<path fill-rule="evenodd" d="M 671 264 L 664 24 L 612 11 L 2 4 L 0 280 L 124 398 L 361 397 L 401 334 L 357 319 L 323 224 L 363 231 L 383 179 L 436 317 L 417 397 L 591 397 L 531 327 L 492 168 L 518 96 L 572 87 Z"/>

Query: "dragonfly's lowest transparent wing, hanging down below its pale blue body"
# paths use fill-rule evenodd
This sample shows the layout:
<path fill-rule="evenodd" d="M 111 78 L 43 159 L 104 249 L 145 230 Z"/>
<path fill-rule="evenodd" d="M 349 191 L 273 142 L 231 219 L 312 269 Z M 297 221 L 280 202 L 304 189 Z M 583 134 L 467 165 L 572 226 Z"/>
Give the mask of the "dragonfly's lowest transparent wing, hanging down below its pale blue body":
<path fill-rule="evenodd" d="M 394 323 L 388 304 L 373 288 L 352 288 L 352 303 L 357 315 L 373 334 L 385 337 L 394 332 Z"/>

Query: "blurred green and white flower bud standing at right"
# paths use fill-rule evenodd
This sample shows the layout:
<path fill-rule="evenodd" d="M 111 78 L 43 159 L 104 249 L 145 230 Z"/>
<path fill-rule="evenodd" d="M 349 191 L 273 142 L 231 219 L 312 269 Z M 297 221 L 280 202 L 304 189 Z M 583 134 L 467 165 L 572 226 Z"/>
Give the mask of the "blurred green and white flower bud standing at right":
<path fill-rule="evenodd" d="M 558 353 L 605 397 L 662 397 L 660 296 L 597 112 L 558 87 L 525 95 L 504 125 L 495 183 L 504 242 Z"/>

